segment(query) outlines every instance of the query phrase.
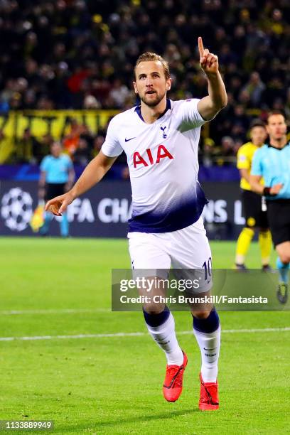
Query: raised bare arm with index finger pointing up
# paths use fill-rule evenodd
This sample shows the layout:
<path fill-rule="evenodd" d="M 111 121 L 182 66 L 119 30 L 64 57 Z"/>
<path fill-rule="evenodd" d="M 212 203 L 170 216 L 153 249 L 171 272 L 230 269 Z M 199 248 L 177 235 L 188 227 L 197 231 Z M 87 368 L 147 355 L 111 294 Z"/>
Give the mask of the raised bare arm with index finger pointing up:
<path fill-rule="evenodd" d="M 198 38 L 200 54 L 200 68 L 208 77 L 208 96 L 198 102 L 198 112 L 203 119 L 213 119 L 220 110 L 227 105 L 227 92 L 218 70 L 218 56 L 203 48 L 203 39 Z"/>

